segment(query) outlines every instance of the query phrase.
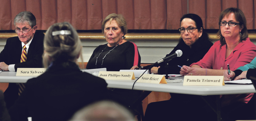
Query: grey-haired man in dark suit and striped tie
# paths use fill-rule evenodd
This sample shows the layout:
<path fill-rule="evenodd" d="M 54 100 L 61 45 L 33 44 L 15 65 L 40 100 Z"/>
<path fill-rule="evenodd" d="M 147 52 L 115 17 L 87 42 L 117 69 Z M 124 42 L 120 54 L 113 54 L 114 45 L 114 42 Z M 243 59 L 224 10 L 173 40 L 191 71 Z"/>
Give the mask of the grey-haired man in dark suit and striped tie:
<path fill-rule="evenodd" d="M 42 68 L 43 32 L 36 32 L 36 18 L 31 12 L 21 12 L 14 18 L 17 37 L 8 38 L 0 53 L 0 70 L 17 71 L 17 68 Z M 25 47 L 23 49 L 23 47 Z M 21 61 L 26 51 L 26 60 Z M 25 57 L 23 57 L 25 58 Z M 18 98 L 19 85 L 9 83 L 4 92 L 6 106 L 9 108 Z"/>

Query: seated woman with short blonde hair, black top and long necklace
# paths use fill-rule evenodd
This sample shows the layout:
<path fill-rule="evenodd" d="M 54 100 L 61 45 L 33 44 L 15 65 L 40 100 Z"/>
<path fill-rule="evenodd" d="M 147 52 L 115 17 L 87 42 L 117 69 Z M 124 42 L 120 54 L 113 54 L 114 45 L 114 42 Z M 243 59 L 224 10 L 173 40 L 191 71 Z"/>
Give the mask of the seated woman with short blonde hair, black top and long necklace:
<path fill-rule="evenodd" d="M 137 45 L 125 40 L 127 23 L 121 14 L 109 14 L 102 22 L 102 33 L 108 43 L 98 46 L 91 55 L 86 69 L 107 68 L 107 71 L 120 71 L 140 66 Z M 142 91 L 128 89 L 109 90 L 110 98 L 126 107 L 140 97 Z M 131 96 L 132 95 L 132 96 Z"/>

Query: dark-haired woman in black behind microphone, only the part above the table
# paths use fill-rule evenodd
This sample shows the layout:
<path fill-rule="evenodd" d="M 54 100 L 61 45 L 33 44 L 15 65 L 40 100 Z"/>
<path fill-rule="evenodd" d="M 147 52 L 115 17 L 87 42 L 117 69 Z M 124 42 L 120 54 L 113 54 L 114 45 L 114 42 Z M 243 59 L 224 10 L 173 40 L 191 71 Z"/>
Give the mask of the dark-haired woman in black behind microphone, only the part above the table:
<path fill-rule="evenodd" d="M 170 60 L 168 74 L 180 74 L 180 67 L 177 65 L 187 65 L 198 62 L 208 52 L 213 43 L 210 41 L 208 34 L 203 30 L 202 19 L 196 14 L 185 14 L 180 19 L 181 33 L 178 45 L 166 55 L 169 56 L 177 50 L 182 51 L 182 56 Z M 149 68 L 150 65 L 143 67 Z M 159 63 L 156 67 L 151 68 L 151 73 L 166 74 L 165 63 Z M 139 68 L 137 66 L 131 69 Z"/>

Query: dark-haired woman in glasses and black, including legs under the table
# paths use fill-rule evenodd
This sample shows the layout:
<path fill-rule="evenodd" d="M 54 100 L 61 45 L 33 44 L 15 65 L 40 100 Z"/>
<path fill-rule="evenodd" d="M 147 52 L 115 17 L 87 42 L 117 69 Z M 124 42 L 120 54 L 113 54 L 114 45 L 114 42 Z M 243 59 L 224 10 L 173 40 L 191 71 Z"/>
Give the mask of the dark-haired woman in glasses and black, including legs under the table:
<path fill-rule="evenodd" d="M 180 19 L 179 31 L 181 32 L 180 41 L 170 54 L 174 53 L 176 50 L 181 50 L 182 56 L 173 58 L 171 61 L 169 61 L 170 69 L 168 69 L 168 74 L 179 74 L 180 67 L 177 65 L 190 65 L 199 61 L 213 45 L 208 34 L 203 31 L 202 19 L 196 14 L 183 15 Z M 151 73 L 154 71 L 154 69 L 158 71 L 158 74 L 165 74 L 164 63 L 163 66 L 160 66 L 160 68 L 153 67 L 151 69 Z M 182 96 L 181 98 L 183 98 Z M 171 94 L 171 97 L 172 98 L 167 101 L 159 101 L 148 104 L 145 112 L 145 120 L 185 120 L 186 117 L 182 117 L 181 115 L 183 115 L 183 113 L 181 112 L 183 106 L 187 105 L 184 104 L 183 106 L 180 106 L 179 103 L 177 103 L 182 100 L 179 97 L 179 94 Z M 174 100 L 173 97 L 175 97 Z M 173 102 L 177 103 L 177 105 Z M 170 116 L 170 114 L 172 115 Z"/>

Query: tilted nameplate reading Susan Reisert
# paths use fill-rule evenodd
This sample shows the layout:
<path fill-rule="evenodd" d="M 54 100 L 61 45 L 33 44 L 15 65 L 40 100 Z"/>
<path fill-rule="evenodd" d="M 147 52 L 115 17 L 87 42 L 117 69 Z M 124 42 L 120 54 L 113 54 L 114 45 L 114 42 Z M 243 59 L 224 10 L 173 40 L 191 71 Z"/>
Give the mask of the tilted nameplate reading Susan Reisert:
<path fill-rule="evenodd" d="M 167 84 L 164 75 L 158 74 L 143 74 L 137 82 L 142 83 L 155 83 L 155 84 Z"/>

